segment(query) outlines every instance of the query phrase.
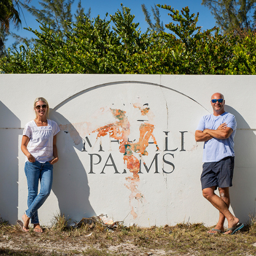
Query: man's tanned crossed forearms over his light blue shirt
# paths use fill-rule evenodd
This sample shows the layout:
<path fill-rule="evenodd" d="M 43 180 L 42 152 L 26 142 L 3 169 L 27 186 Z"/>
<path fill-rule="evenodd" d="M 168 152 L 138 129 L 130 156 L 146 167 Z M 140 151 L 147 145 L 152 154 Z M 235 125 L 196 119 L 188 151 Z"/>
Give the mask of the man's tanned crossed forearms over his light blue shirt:
<path fill-rule="evenodd" d="M 195 131 L 196 142 L 206 142 L 212 138 L 225 139 L 228 138 L 233 130 L 227 127 L 226 123 L 220 124 L 217 130 L 205 129 L 204 131 Z"/>

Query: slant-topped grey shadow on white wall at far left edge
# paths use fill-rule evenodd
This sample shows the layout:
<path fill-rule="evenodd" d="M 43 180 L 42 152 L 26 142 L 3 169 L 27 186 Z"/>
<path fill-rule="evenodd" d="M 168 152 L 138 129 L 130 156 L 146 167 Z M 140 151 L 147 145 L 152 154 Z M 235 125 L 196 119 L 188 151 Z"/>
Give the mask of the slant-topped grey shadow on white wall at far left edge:
<path fill-rule="evenodd" d="M 16 223 L 18 217 L 18 137 L 20 120 L 0 101 L 0 217 Z"/>

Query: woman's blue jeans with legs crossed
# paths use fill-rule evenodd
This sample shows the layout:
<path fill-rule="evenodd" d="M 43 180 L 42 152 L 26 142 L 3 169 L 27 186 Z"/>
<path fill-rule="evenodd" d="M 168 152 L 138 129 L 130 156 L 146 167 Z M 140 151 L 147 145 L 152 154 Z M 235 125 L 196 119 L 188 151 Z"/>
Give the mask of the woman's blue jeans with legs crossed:
<path fill-rule="evenodd" d="M 31 218 L 32 224 L 37 224 L 39 223 L 38 209 L 50 195 L 52 189 L 53 165 L 49 162 L 26 161 L 25 173 L 28 181 L 28 210 L 26 214 Z M 39 180 L 41 188 L 38 194 Z"/>

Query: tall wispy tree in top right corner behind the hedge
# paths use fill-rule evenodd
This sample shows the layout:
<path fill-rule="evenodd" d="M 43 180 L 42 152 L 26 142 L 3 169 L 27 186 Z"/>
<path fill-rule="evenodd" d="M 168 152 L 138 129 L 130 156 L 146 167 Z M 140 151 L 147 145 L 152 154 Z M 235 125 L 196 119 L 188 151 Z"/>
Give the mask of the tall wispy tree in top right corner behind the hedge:
<path fill-rule="evenodd" d="M 255 29 L 256 0 L 202 0 L 216 19 L 216 24 L 224 31 L 248 31 Z"/>

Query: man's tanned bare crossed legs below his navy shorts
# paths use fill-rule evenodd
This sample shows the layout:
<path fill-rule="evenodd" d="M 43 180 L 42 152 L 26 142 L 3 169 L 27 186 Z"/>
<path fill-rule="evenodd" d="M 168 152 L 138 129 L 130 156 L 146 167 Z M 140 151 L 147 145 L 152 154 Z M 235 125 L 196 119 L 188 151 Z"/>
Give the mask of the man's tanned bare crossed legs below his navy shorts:
<path fill-rule="evenodd" d="M 215 187 L 203 189 L 203 196 L 215 207 L 219 210 L 219 221 L 216 225 L 216 229 L 220 229 L 224 231 L 224 221 L 227 218 L 228 227 L 232 228 L 235 227 L 239 223 L 239 219 L 232 215 L 229 210 L 228 206 L 230 204 L 229 200 L 229 191 L 228 188 L 221 188 L 220 196 L 214 193 Z M 217 228 L 219 227 L 219 228 Z M 225 234 L 231 234 L 232 231 L 227 231 Z"/>

